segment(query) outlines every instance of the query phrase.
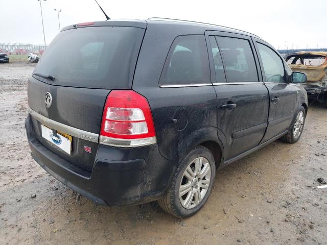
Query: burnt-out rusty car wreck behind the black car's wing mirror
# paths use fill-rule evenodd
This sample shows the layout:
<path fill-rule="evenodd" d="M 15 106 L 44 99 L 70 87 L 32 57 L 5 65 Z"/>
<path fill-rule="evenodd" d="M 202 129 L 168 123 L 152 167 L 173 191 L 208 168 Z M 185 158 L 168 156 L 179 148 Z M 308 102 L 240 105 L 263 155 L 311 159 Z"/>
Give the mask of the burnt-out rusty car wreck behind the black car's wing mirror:
<path fill-rule="evenodd" d="M 293 71 L 307 74 L 307 82 L 302 85 L 308 99 L 327 102 L 327 52 L 296 52 L 285 60 Z"/>

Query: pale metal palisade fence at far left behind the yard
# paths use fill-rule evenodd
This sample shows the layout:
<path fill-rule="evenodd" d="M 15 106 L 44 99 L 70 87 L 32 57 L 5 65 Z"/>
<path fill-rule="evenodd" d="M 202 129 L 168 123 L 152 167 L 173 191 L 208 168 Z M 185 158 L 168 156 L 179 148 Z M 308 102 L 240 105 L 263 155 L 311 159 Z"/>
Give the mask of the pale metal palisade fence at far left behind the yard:
<path fill-rule="evenodd" d="M 42 44 L 0 42 L 0 53 L 6 53 L 9 56 L 9 62 L 27 61 L 30 53 L 41 57 L 46 47 Z"/>

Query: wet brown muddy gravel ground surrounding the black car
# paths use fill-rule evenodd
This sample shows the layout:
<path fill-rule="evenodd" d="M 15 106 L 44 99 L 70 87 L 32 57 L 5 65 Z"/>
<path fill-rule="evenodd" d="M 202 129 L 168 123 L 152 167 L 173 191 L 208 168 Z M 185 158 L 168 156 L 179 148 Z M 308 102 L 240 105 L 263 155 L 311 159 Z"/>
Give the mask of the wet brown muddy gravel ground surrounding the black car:
<path fill-rule="evenodd" d="M 97 206 L 31 158 L 34 66 L 0 64 L 0 244 L 327 244 L 327 189 L 316 181 L 327 180 L 325 106 L 310 106 L 298 143 L 275 141 L 219 171 L 203 209 L 180 220 L 156 203 Z"/>

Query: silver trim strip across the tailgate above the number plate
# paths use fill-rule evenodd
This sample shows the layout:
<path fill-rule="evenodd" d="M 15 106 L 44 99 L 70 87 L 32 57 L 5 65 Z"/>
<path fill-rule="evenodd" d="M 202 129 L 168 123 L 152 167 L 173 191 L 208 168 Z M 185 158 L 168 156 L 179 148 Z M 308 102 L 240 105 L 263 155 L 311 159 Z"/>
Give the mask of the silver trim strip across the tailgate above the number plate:
<path fill-rule="evenodd" d="M 62 131 L 63 133 L 69 134 L 71 136 L 85 139 L 91 142 L 99 142 L 99 134 L 90 133 L 81 129 L 77 129 L 65 124 L 61 124 L 58 121 L 54 121 L 52 119 L 49 119 L 48 117 L 45 117 L 36 111 L 32 110 L 30 107 L 28 108 L 30 115 L 41 122 L 41 124 L 50 127 L 51 129 Z"/>

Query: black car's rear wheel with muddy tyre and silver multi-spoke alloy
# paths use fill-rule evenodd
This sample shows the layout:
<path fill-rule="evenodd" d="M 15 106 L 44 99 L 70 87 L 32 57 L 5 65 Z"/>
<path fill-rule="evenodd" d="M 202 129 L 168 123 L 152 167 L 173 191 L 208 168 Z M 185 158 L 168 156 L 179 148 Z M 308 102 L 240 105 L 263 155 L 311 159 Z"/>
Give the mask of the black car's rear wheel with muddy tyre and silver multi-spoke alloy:
<path fill-rule="evenodd" d="M 213 154 L 204 146 L 197 146 L 181 161 L 167 192 L 158 200 L 158 204 L 175 217 L 196 214 L 208 200 L 215 174 Z"/>

